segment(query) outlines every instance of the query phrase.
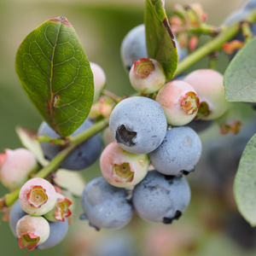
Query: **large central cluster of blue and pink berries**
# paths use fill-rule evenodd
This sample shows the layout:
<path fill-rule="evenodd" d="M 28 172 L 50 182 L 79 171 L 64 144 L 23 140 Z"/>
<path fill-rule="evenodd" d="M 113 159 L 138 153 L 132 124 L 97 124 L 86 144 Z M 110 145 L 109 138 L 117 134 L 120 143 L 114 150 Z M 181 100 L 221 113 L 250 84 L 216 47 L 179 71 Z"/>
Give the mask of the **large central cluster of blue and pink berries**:
<path fill-rule="evenodd" d="M 230 108 L 224 100 L 222 74 L 201 69 L 166 83 L 160 62 L 148 58 L 144 26 L 124 39 L 121 57 L 131 86 L 141 93 L 113 108 L 96 177 L 84 189 L 81 219 L 99 230 L 119 229 L 133 212 L 146 221 L 171 224 L 189 206 L 189 183 L 183 174 L 195 170 L 201 139 L 188 125 L 209 122 Z M 138 59 L 134 59 L 138 57 Z M 148 172 L 150 164 L 154 171 Z"/>

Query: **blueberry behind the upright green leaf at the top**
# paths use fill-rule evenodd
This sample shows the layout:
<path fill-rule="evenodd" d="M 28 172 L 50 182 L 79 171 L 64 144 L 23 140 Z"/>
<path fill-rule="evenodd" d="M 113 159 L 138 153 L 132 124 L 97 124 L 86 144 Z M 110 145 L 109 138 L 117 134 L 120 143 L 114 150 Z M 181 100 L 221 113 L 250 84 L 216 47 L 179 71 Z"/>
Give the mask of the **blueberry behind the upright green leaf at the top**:
<path fill-rule="evenodd" d="M 181 49 L 176 41 L 178 61 L 182 61 L 187 56 L 187 49 Z M 121 59 L 125 70 L 130 72 L 134 61 L 141 58 L 148 58 L 145 25 L 135 26 L 128 32 L 121 44 Z"/>

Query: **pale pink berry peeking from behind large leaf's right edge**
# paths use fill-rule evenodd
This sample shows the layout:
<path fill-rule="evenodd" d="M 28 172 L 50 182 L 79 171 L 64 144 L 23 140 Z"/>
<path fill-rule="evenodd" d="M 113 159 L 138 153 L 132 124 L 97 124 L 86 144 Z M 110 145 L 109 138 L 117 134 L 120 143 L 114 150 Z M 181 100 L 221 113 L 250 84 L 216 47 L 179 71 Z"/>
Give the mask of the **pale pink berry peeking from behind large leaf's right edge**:
<path fill-rule="evenodd" d="M 102 90 L 106 84 L 106 74 L 104 73 L 102 67 L 94 62 L 90 62 L 90 69 L 93 73 L 93 82 L 94 82 L 94 97 L 93 102 L 97 102 L 100 98 Z"/>

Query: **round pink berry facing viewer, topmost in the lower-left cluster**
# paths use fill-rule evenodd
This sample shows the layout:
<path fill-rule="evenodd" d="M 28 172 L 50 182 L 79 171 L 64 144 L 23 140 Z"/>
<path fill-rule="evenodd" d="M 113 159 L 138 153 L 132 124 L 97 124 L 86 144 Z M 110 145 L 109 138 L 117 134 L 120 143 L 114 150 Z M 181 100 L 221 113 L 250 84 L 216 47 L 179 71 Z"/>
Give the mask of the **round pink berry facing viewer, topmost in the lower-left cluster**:
<path fill-rule="evenodd" d="M 34 177 L 20 189 L 20 207 L 30 215 L 44 215 L 57 200 L 54 186 L 44 178 Z"/>

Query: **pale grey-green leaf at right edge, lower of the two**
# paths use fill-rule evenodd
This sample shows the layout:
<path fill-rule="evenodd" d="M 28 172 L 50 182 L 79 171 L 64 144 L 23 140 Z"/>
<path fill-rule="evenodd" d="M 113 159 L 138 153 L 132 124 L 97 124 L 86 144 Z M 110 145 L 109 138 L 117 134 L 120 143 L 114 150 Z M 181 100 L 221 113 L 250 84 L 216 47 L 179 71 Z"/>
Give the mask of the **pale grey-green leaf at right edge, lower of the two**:
<path fill-rule="evenodd" d="M 234 183 L 236 204 L 241 215 L 252 226 L 256 225 L 256 134 L 241 155 Z"/>

